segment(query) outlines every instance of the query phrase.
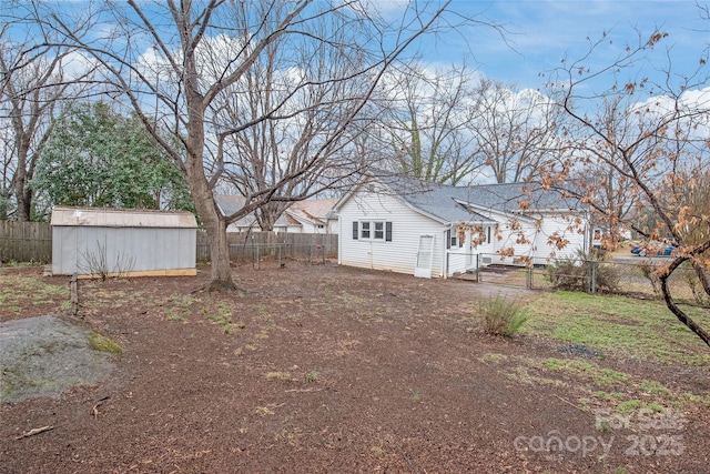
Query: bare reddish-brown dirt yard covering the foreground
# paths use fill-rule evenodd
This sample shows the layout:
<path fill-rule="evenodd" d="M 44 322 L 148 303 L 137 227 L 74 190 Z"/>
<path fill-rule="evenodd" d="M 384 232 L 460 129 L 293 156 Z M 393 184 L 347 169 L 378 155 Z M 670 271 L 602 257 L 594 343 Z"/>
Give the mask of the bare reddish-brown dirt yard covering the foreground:
<path fill-rule="evenodd" d="M 123 351 L 97 385 L 0 404 L 0 471 L 709 470 L 707 407 L 649 423 L 580 402 L 561 372 L 530 377 L 520 361 L 582 357 L 545 337 L 483 334 L 470 315 L 496 286 L 288 262 L 235 268 L 239 293 L 193 292 L 207 276 L 82 282 L 85 324 Z M 18 296 L 0 321 L 65 312 L 55 293 Z M 677 392 L 710 390 L 707 367 L 596 362 Z"/>

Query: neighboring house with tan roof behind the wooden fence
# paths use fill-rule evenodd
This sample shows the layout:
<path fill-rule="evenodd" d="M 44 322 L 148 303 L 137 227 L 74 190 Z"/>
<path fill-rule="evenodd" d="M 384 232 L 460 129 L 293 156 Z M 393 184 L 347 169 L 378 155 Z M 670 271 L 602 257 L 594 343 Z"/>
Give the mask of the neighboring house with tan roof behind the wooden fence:
<path fill-rule="evenodd" d="M 231 215 L 244 206 L 246 198 L 241 195 L 216 194 L 214 199 L 223 215 Z M 274 232 L 288 233 L 333 233 L 337 219 L 329 213 L 336 199 L 312 199 L 296 201 L 286 209 L 274 223 Z M 256 215 L 250 213 L 226 228 L 227 232 L 261 231 Z"/>

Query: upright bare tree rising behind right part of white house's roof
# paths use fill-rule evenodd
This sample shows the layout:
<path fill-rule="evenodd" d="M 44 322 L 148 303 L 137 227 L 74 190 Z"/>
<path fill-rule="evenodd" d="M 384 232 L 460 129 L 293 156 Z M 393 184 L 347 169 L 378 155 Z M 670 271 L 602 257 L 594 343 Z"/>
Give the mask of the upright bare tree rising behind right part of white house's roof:
<path fill-rule="evenodd" d="M 484 168 L 498 183 L 537 179 L 550 151 L 559 150 L 559 108 L 538 91 L 516 92 L 490 79 L 479 82 L 474 97 L 468 130 Z"/>

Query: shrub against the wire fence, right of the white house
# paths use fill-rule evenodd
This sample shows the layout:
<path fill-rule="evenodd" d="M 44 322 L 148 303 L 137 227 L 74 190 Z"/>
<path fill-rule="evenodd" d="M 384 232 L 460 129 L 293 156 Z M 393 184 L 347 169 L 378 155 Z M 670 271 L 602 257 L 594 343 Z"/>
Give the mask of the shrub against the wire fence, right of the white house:
<path fill-rule="evenodd" d="M 578 251 L 575 256 L 558 259 L 547 268 L 547 276 L 555 290 L 589 291 L 591 265 L 596 265 L 596 289 L 600 293 L 619 290 L 619 271 L 612 264 L 602 263 L 604 256 Z"/>

